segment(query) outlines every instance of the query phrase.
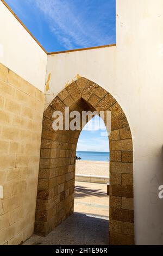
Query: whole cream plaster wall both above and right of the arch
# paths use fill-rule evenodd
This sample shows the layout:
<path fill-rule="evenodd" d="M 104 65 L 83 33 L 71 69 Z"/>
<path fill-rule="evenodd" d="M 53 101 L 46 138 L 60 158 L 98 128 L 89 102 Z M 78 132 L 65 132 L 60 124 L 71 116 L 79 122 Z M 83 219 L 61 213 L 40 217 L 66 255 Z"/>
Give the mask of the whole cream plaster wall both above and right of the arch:
<path fill-rule="evenodd" d="M 163 244 L 163 1 L 116 4 L 116 47 L 48 56 L 45 107 L 77 74 L 115 97 L 133 135 L 136 244 Z"/>

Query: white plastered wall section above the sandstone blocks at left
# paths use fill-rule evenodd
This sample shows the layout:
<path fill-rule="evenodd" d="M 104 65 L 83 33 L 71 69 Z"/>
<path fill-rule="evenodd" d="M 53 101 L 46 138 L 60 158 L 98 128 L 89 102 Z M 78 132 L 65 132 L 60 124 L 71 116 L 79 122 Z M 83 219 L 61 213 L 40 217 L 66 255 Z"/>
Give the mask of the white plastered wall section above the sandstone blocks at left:
<path fill-rule="evenodd" d="M 0 1 L 0 63 L 44 92 L 47 54 Z"/>

